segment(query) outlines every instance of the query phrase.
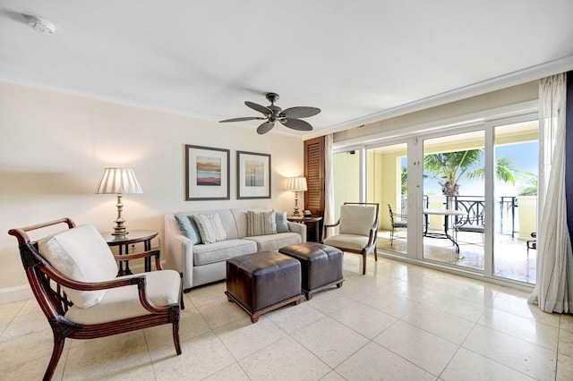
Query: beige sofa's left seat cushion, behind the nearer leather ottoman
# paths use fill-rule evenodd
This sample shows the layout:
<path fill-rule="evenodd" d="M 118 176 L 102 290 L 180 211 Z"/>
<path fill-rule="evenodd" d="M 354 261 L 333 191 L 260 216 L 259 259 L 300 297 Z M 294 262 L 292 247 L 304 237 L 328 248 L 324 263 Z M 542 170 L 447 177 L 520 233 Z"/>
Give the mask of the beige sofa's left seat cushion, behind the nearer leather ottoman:
<path fill-rule="evenodd" d="M 208 245 L 196 245 L 193 246 L 193 266 L 226 261 L 228 258 L 256 251 L 256 243 L 248 240 L 227 240 Z"/>

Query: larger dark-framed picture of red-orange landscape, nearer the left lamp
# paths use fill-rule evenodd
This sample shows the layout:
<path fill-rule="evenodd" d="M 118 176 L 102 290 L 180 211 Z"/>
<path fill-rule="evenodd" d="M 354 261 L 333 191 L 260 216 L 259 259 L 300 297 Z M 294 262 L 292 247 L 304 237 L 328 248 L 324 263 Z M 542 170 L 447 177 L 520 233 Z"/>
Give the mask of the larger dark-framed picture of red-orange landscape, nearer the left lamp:
<path fill-rule="evenodd" d="M 185 200 L 229 199 L 230 151 L 185 145 Z"/>

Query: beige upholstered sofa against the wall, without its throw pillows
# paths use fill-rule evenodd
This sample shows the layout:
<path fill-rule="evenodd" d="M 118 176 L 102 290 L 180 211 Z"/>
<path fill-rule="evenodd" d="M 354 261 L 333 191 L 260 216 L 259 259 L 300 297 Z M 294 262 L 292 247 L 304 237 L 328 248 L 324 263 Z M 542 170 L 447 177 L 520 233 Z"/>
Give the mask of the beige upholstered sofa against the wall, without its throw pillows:
<path fill-rule="evenodd" d="M 184 290 L 223 280 L 227 259 L 253 252 L 278 250 L 306 241 L 306 225 L 288 222 L 287 233 L 247 237 L 247 211 L 271 211 L 270 208 L 236 208 L 181 212 L 165 216 L 165 258 L 167 268 L 183 274 Z M 193 244 L 180 230 L 175 216 L 218 214 L 227 240 Z"/>

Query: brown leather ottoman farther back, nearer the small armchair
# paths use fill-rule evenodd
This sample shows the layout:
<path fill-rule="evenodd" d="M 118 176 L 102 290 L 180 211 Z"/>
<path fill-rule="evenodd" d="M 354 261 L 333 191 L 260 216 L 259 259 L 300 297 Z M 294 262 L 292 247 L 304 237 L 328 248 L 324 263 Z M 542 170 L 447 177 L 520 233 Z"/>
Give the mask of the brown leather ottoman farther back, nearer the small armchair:
<path fill-rule="evenodd" d="M 331 285 L 342 286 L 342 251 L 318 242 L 303 242 L 285 246 L 278 250 L 301 262 L 303 275 L 302 289 L 306 300 Z"/>

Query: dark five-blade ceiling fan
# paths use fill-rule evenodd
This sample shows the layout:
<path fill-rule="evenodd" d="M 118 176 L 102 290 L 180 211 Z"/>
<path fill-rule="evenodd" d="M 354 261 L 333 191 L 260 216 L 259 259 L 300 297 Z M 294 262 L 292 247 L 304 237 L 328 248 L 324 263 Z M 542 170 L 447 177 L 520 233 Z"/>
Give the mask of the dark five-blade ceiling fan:
<path fill-rule="evenodd" d="M 269 132 L 277 122 L 296 131 L 312 131 L 312 125 L 310 123 L 304 122 L 298 118 L 308 118 L 309 116 L 319 114 L 321 112 L 320 108 L 301 106 L 290 107 L 283 110 L 279 106 L 275 106 L 275 102 L 278 100 L 278 94 L 267 93 L 266 97 L 270 102 L 270 106 L 257 105 L 256 103 L 249 102 L 248 100 L 244 102 L 246 106 L 264 114 L 264 117 L 246 116 L 243 118 L 226 119 L 224 121 L 220 121 L 219 123 L 266 120 L 266 122 L 263 122 L 257 128 L 259 135 Z"/>

